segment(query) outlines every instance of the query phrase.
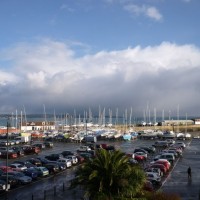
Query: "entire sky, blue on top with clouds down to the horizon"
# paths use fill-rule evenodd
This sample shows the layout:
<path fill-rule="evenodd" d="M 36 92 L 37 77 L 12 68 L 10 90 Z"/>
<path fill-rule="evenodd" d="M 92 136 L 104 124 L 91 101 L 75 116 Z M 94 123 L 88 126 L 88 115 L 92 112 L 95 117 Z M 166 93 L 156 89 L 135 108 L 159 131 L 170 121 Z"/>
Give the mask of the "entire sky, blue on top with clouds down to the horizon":
<path fill-rule="evenodd" d="M 199 0 L 1 0 L 0 114 L 200 116 Z"/>

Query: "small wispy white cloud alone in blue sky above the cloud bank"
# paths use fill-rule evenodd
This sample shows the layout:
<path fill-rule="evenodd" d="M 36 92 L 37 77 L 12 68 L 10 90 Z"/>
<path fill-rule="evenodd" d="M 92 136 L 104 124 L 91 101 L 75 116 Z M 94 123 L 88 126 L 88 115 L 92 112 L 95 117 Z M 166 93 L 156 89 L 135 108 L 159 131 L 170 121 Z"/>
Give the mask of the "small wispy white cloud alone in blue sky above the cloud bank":
<path fill-rule="evenodd" d="M 135 16 L 144 15 L 156 21 L 160 21 L 163 18 L 159 10 L 153 6 L 147 6 L 147 5 L 138 6 L 136 4 L 129 4 L 125 5 L 124 9 L 129 11 L 131 14 Z"/>

